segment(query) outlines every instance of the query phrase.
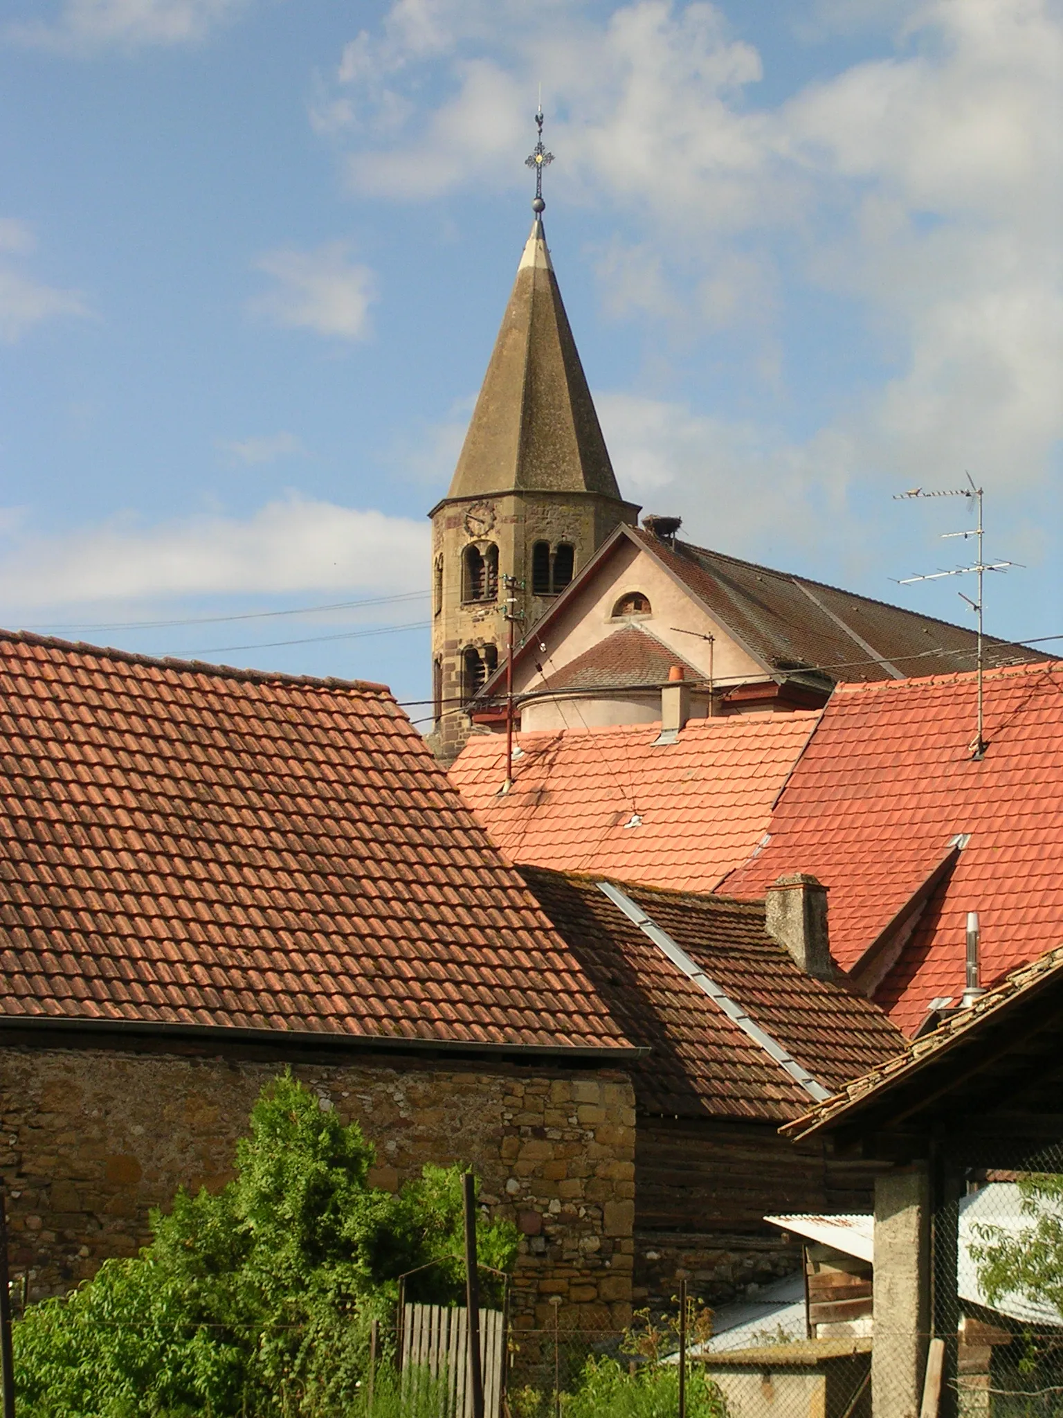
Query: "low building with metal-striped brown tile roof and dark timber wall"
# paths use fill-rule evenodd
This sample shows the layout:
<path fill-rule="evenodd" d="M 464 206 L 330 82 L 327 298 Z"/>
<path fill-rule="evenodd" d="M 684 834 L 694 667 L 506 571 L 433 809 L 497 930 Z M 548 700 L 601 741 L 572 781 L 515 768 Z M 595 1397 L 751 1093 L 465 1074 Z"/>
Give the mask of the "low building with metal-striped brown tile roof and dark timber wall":
<path fill-rule="evenodd" d="M 764 1217 L 869 1210 L 867 1177 L 777 1129 L 904 1049 L 843 980 L 802 970 L 765 902 L 522 868 L 625 1035 L 636 1099 L 635 1300 L 676 1269 L 712 1303 L 795 1268 Z M 785 891 L 787 888 L 781 888 Z"/>

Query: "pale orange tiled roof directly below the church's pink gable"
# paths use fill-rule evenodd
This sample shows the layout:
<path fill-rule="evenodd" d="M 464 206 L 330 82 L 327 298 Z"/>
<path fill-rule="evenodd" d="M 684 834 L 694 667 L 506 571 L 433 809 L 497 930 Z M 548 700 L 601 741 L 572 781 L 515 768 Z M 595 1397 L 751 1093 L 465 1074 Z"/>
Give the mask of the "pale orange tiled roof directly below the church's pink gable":
<path fill-rule="evenodd" d="M 475 735 L 451 780 L 512 861 L 712 891 L 763 837 L 818 719 L 696 719 L 663 746 L 659 725 L 522 733 L 505 797 L 505 739 Z"/>

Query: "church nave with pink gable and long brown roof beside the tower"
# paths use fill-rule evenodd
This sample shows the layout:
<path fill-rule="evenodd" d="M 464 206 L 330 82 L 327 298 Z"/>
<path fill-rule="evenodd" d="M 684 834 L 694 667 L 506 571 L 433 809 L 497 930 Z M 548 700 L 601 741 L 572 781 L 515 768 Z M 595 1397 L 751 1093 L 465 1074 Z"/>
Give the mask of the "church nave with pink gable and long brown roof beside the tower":
<path fill-rule="evenodd" d="M 615 664 L 618 632 L 652 634 L 686 666 L 686 713 L 730 715 L 818 708 L 836 683 L 904 679 L 974 668 L 974 630 L 899 605 L 743 562 L 683 542 L 677 518 L 618 526 L 541 617 L 513 655 L 513 691 L 522 729 L 578 722 L 646 723 L 660 718 L 645 652 L 632 647 L 641 696 L 588 678 L 587 666 Z M 607 649 L 605 647 L 611 647 Z M 1025 645 L 986 637 L 989 665 L 1040 661 Z M 656 665 L 655 665 L 656 668 Z M 469 705 L 473 722 L 505 722 L 505 665 Z"/>

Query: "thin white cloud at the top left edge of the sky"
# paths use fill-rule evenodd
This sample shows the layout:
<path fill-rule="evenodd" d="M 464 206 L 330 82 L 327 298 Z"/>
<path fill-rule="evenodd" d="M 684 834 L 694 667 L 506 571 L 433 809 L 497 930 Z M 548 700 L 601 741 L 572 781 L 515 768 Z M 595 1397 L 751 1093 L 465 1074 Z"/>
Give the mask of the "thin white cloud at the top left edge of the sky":
<path fill-rule="evenodd" d="M 88 54 L 108 45 L 191 44 L 244 9 L 247 0 L 64 0 L 52 20 L 16 21 L 18 44 Z"/>

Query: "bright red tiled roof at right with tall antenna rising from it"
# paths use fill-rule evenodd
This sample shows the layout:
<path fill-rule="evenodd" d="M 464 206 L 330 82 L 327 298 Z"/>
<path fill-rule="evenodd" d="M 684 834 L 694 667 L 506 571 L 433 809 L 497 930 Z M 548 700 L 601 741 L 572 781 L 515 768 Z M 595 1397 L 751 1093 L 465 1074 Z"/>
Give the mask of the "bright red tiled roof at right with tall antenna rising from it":
<path fill-rule="evenodd" d="M 831 888 L 835 959 L 852 970 L 969 834 L 874 994 L 906 1032 L 933 998 L 962 993 L 968 910 L 984 984 L 1063 940 L 1063 664 L 988 672 L 985 726 L 977 761 L 974 675 L 836 689 L 770 842 L 724 882 L 761 896 L 781 872 L 814 872 Z"/>

